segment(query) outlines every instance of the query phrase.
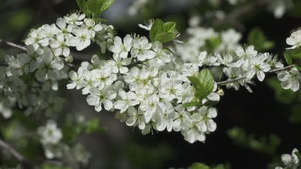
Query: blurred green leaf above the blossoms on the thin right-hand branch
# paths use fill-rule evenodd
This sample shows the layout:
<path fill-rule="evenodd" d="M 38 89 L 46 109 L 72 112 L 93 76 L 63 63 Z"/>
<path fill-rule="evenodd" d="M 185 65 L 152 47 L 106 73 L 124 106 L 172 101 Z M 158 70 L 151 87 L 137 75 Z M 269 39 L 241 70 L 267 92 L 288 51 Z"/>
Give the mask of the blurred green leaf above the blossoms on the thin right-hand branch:
<path fill-rule="evenodd" d="M 269 50 L 274 47 L 274 42 L 268 41 L 263 31 L 256 27 L 253 28 L 248 36 L 248 44 L 254 45 L 258 51 Z"/>

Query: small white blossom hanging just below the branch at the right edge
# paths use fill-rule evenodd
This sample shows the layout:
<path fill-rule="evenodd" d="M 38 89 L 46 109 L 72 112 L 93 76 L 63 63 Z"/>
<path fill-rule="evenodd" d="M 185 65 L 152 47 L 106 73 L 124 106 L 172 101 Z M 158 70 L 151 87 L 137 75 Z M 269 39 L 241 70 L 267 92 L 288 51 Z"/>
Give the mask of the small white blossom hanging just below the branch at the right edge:
<path fill-rule="evenodd" d="M 284 89 L 292 89 L 297 91 L 299 89 L 301 80 L 301 74 L 297 68 L 293 68 L 291 71 L 282 71 L 278 74 L 278 79 L 281 81 L 281 86 Z"/>

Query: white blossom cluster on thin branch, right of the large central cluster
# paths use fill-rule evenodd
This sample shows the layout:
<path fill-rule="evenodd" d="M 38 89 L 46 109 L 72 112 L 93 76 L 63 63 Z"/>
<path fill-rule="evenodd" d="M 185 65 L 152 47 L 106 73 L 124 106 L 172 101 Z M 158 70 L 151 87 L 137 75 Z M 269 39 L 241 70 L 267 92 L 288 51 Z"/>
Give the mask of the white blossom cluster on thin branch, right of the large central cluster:
<path fill-rule="evenodd" d="M 269 53 L 258 54 L 252 45 L 246 49 L 239 47 L 235 53 L 235 56 L 225 55 L 223 59 L 219 57 L 219 60 L 227 63 L 224 73 L 229 80 L 241 78 L 237 82 L 227 84 L 227 88 L 233 87 L 238 90 L 240 85 L 243 85 L 251 92 L 249 84 L 252 84 L 251 80 L 254 76 L 262 82 L 266 72 L 284 67 L 276 56 L 274 57 Z"/>

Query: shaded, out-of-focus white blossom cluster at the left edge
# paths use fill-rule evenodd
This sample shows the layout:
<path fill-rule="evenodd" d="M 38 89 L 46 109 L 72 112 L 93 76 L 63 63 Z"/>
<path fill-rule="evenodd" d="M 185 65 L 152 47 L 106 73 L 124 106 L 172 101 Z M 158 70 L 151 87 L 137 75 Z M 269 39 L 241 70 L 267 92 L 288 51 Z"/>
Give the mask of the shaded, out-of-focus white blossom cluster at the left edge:
<path fill-rule="evenodd" d="M 56 113 L 63 100 L 51 90 L 58 90 L 58 81 L 68 78 L 63 61 L 55 57 L 50 48 L 27 47 L 27 53 L 16 57 L 6 55 L 6 68 L 1 68 L 0 101 L 5 117 L 11 116 L 11 108 L 25 109 L 25 114 L 46 111 Z M 55 97 L 55 99 L 53 99 Z M 48 113 L 49 114 L 49 113 Z"/>

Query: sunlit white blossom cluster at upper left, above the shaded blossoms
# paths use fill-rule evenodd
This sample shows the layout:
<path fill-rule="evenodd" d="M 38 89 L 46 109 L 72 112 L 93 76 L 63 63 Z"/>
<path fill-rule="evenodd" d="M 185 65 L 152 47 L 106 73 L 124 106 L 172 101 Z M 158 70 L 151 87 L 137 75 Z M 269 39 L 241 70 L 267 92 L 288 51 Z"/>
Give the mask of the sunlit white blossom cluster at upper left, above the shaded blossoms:
<path fill-rule="evenodd" d="M 94 19 L 86 18 L 79 12 L 58 18 L 55 24 L 45 24 L 38 29 L 32 29 L 25 40 L 26 45 L 33 45 L 35 49 L 50 46 L 54 56 L 69 56 L 71 46 L 83 50 L 96 41 L 104 53 L 114 38 L 113 26 L 98 23 Z"/>

